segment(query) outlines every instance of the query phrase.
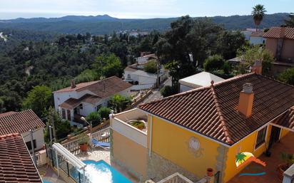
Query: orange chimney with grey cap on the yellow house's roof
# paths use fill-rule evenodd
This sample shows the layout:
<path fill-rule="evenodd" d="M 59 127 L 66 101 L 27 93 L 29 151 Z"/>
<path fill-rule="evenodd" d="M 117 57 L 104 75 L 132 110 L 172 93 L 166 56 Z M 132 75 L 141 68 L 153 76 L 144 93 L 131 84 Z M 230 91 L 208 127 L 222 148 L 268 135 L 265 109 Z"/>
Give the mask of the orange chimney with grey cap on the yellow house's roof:
<path fill-rule="evenodd" d="M 243 90 L 240 92 L 238 111 L 245 115 L 246 118 L 252 115 L 253 99 L 253 85 L 251 83 L 245 83 Z"/>

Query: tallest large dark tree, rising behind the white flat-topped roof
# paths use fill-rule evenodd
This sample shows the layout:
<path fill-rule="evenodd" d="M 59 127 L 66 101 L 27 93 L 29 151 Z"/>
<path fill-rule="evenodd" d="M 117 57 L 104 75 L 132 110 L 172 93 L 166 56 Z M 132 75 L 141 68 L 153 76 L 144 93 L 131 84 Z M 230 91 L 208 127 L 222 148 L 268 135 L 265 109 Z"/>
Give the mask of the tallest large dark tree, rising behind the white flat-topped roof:
<path fill-rule="evenodd" d="M 223 28 L 206 18 L 183 16 L 171 23 L 171 30 L 156 43 L 156 53 L 170 70 L 173 85 L 203 67 L 203 61 L 216 49 L 221 31 Z"/>

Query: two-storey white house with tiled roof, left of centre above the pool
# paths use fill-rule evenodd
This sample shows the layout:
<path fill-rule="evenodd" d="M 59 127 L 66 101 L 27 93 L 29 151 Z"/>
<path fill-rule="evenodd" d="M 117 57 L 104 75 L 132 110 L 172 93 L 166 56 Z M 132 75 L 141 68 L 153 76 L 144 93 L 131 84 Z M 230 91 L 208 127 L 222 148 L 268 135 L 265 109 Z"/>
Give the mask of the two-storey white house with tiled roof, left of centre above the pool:
<path fill-rule="evenodd" d="M 54 91 L 54 105 L 63 119 L 69 120 L 71 125 L 83 127 L 86 124 L 81 117 L 107 106 L 115 94 L 129 96 L 131 86 L 116 76 L 79 84 L 72 80 L 70 87 Z"/>

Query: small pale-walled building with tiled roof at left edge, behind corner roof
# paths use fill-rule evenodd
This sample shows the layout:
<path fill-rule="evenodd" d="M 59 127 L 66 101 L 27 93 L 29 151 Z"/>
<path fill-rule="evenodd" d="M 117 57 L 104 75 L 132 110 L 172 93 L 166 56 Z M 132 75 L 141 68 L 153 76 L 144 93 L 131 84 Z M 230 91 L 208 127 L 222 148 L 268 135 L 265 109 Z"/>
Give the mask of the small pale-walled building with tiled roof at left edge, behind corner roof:
<path fill-rule="evenodd" d="M 46 125 L 34 113 L 33 110 L 21 112 L 8 112 L 0 114 L 0 135 L 20 133 L 24 137 L 24 142 L 31 150 L 31 135 L 29 130 L 33 130 L 33 143 L 35 150 L 40 150 L 44 146 L 44 127 Z"/>

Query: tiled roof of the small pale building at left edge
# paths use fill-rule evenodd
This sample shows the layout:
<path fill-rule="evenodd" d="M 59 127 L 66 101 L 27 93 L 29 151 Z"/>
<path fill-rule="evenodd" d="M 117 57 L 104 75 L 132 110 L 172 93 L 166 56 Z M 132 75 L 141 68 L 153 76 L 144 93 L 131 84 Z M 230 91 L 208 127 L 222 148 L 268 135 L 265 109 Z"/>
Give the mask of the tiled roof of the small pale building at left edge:
<path fill-rule="evenodd" d="M 45 127 L 44 122 L 33 112 L 33 110 L 24 110 L 0 116 L 0 135 L 6 135 L 14 132 L 24 133 L 30 129 L 39 129 Z"/>

